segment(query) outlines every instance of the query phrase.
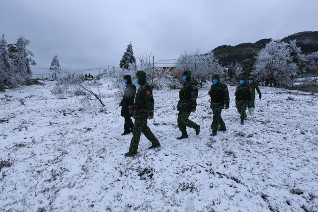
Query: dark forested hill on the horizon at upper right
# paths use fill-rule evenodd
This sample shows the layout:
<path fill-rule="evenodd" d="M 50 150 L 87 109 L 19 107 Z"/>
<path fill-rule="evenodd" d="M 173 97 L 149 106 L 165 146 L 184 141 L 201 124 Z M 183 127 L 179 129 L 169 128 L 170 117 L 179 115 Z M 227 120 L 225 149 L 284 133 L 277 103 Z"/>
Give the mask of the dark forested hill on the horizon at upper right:
<path fill-rule="evenodd" d="M 297 40 L 296 44 L 302 50 L 303 54 L 309 54 L 318 51 L 318 31 L 299 32 L 282 39 L 289 43 L 291 40 Z M 257 52 L 264 48 L 271 39 L 261 39 L 255 43 L 242 43 L 237 46 L 223 45 L 212 50 L 220 64 L 227 66 L 231 63 L 241 63 L 246 59 L 252 59 Z"/>

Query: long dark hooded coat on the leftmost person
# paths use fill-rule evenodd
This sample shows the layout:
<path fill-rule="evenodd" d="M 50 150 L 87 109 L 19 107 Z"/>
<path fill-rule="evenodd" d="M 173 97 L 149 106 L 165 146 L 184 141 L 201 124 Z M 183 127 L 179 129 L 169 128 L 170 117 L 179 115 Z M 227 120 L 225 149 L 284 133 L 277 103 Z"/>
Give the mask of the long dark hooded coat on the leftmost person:
<path fill-rule="evenodd" d="M 131 117 L 128 106 L 133 106 L 134 104 L 136 86 L 132 83 L 130 75 L 125 75 L 124 78 L 127 79 L 127 85 L 124 91 L 123 99 L 120 102 L 122 104 L 120 115 L 123 117 Z"/>

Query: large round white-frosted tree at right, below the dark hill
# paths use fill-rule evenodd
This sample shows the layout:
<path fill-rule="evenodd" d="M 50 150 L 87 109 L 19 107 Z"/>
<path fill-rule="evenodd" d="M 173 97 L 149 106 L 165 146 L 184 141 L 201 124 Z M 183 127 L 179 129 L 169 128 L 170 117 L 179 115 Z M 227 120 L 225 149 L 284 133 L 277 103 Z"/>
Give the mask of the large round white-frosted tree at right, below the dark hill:
<path fill-rule="evenodd" d="M 292 49 L 287 43 L 272 40 L 258 52 L 252 74 L 266 85 L 291 87 L 292 76 L 299 71 L 291 54 Z"/>

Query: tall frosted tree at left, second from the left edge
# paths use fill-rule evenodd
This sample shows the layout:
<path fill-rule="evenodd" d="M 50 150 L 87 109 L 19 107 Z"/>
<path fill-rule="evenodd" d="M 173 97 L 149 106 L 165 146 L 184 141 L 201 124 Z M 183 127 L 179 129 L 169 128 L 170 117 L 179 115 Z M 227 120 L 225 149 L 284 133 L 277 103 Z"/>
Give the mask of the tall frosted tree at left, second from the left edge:
<path fill-rule="evenodd" d="M 32 59 L 32 57 L 34 57 L 33 53 L 26 49 L 26 46 L 29 43 L 29 40 L 20 36 L 15 44 L 16 52 L 13 54 L 13 69 L 15 79 L 19 84 L 30 82 L 32 74 L 30 64 L 36 65 L 35 61 Z"/>

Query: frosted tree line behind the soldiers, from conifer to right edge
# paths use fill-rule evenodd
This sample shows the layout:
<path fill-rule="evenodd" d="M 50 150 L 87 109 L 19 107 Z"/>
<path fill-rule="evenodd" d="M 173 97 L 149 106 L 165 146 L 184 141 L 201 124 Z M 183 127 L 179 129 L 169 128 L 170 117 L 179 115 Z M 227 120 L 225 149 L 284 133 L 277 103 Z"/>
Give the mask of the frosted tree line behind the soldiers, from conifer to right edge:
<path fill-rule="evenodd" d="M 265 46 L 260 48 L 264 44 Z M 282 40 L 269 42 L 261 40 L 254 46 L 258 50 L 254 52 L 255 55 L 252 58 L 236 63 L 220 63 L 214 51 L 206 54 L 200 54 L 199 50 L 190 53 L 184 51 L 176 60 L 176 65 L 171 72 L 177 75 L 182 71 L 190 70 L 193 79 L 200 87 L 211 79 L 213 73 L 218 73 L 222 81 L 230 84 L 237 84 L 240 76 L 254 75 L 262 85 L 292 88 L 295 76 L 304 72 L 318 73 L 318 52 L 302 54 L 301 48 L 296 44 L 296 40 L 289 43 Z M 154 73 L 156 78 L 156 75 L 160 75 L 159 72 L 167 71 L 156 68 L 155 63 L 149 60 L 150 58 L 139 59 L 138 66 L 130 42 L 120 62 L 120 68 L 128 73 L 143 70 L 150 78 L 154 78 Z"/>

